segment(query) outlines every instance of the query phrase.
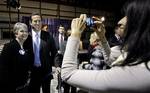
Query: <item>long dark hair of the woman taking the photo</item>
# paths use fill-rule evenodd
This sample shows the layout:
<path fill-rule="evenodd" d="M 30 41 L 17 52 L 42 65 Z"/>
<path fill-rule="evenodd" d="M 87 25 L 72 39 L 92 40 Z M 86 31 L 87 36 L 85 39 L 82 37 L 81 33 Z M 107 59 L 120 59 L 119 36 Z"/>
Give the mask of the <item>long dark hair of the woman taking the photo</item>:
<path fill-rule="evenodd" d="M 128 54 L 122 65 L 147 63 L 150 60 L 150 0 L 132 0 L 126 16 L 123 47 L 127 47 Z"/>

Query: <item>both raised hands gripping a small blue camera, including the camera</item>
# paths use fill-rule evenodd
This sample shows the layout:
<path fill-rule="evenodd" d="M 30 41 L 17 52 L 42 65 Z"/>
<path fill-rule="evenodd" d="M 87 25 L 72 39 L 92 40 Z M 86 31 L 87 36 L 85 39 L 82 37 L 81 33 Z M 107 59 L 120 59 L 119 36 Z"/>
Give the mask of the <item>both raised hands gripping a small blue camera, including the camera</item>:
<path fill-rule="evenodd" d="M 86 27 L 91 27 L 97 35 L 99 36 L 100 40 L 105 39 L 105 27 L 103 21 L 105 20 L 104 17 L 98 18 L 93 16 L 92 18 L 87 18 L 86 14 L 81 14 L 80 18 L 75 18 L 72 20 L 71 23 L 71 36 L 81 37 L 82 31 Z"/>

